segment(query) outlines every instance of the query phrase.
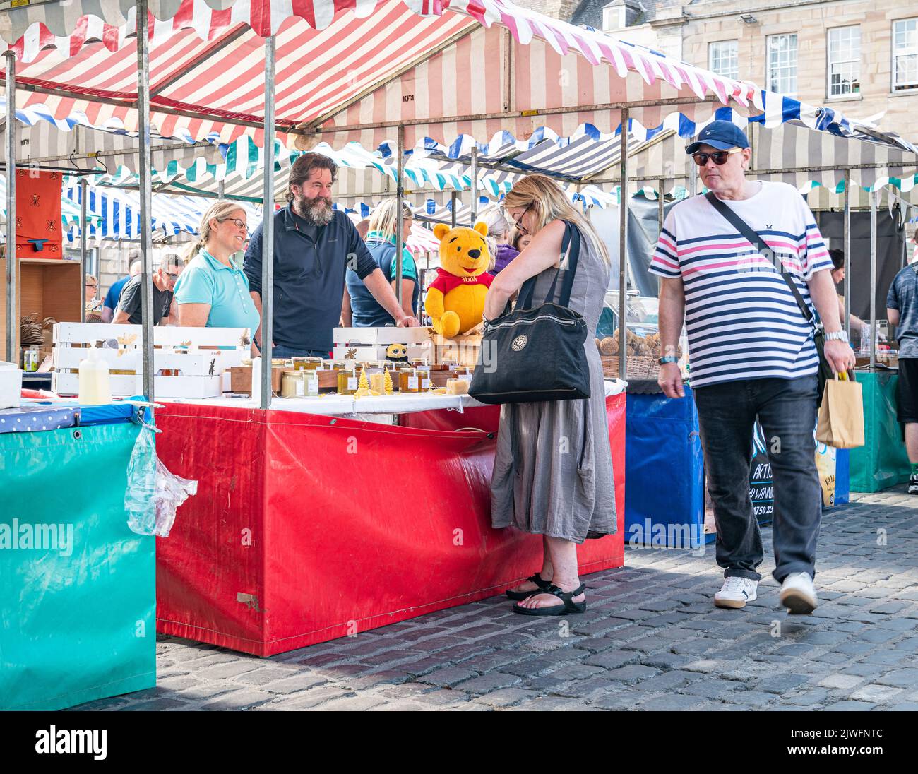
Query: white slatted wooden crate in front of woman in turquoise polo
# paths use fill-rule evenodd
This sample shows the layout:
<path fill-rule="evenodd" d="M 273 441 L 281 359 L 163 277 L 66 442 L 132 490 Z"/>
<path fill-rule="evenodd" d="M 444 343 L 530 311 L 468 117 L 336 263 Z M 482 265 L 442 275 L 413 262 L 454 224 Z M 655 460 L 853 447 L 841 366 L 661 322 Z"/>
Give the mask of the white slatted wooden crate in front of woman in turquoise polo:
<path fill-rule="evenodd" d="M 79 391 L 80 363 L 95 347 L 99 357 L 113 371 L 113 396 L 140 395 L 143 352 L 140 325 L 59 322 L 53 329 L 54 373 L 51 387 L 59 395 Z M 158 398 L 216 398 L 229 390 L 228 369 L 248 357 L 251 336 L 248 328 L 153 329 L 153 368 L 178 369 L 179 376 L 155 376 Z"/>

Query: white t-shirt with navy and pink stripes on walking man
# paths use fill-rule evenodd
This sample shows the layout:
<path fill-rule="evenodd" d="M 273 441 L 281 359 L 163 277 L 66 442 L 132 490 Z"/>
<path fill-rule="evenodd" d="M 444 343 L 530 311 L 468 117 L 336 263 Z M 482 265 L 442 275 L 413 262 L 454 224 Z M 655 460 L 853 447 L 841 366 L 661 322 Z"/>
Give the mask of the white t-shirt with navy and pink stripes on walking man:
<path fill-rule="evenodd" d="M 806 281 L 832 260 L 797 190 L 763 182 L 754 196 L 724 202 L 776 253 L 812 308 Z M 816 373 L 812 326 L 784 278 L 704 196 L 670 210 L 650 271 L 685 286 L 692 387 Z"/>

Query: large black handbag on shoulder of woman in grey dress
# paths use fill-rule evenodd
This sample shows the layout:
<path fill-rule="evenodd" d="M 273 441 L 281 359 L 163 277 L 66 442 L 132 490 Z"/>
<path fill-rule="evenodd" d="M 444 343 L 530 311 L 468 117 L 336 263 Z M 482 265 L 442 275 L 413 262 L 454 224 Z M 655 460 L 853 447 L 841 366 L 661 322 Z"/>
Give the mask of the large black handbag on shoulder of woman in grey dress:
<path fill-rule="evenodd" d="M 513 311 L 508 304 L 497 320 L 485 321 L 468 388 L 476 400 L 496 404 L 589 398 L 587 321 L 567 307 L 580 258 L 580 232 L 566 221 L 561 251 L 567 269 L 558 303 L 554 303 L 554 289 L 560 266 L 542 305 L 532 308 L 536 275 L 523 283 Z"/>

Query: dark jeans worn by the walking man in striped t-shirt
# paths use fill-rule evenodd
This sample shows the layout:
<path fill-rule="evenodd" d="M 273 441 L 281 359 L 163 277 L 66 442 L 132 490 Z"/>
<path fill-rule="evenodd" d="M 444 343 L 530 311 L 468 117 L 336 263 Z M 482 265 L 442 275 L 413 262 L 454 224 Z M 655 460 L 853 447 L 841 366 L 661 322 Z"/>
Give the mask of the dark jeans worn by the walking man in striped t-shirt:
<path fill-rule="evenodd" d="M 815 575 L 823 492 L 816 472 L 816 377 L 750 379 L 694 390 L 708 492 L 717 522 L 723 575 L 759 580 L 762 536 L 749 499 L 756 416 L 765 432 L 774 482 L 772 539 L 781 582 L 792 572 Z"/>

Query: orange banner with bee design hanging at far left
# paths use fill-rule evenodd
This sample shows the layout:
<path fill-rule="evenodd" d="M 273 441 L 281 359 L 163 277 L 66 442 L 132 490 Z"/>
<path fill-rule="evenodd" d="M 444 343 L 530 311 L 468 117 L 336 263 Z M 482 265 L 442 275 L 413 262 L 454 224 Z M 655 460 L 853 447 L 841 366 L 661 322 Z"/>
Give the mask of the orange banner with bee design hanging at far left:
<path fill-rule="evenodd" d="M 16 254 L 62 258 L 60 172 L 16 171 Z"/>

